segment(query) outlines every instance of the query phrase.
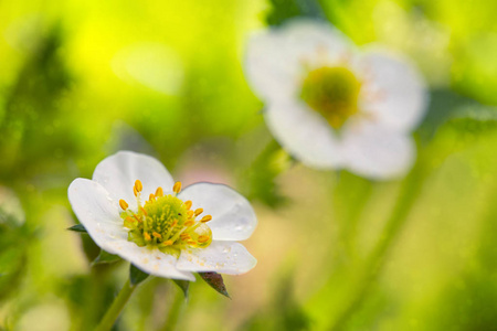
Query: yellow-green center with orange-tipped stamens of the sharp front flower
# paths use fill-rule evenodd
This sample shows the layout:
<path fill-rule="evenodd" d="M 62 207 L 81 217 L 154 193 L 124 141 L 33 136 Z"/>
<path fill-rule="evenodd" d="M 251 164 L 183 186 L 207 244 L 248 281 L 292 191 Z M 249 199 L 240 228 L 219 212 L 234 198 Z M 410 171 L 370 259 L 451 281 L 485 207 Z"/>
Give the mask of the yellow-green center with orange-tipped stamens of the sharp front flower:
<path fill-rule="evenodd" d="M 133 192 L 137 201 L 137 211 L 128 209 L 128 203 L 119 200 L 124 210 L 120 217 L 124 226 L 128 228 L 128 241 L 138 246 L 157 247 L 163 253 L 179 257 L 181 249 L 205 248 L 212 243 L 212 232 L 207 225 L 212 220 L 203 213 L 202 209 L 192 210 L 191 201 L 178 199 L 181 183 L 172 188 L 173 194 L 165 195 L 162 188 L 141 204 L 142 185 L 139 180 L 135 182 Z"/>

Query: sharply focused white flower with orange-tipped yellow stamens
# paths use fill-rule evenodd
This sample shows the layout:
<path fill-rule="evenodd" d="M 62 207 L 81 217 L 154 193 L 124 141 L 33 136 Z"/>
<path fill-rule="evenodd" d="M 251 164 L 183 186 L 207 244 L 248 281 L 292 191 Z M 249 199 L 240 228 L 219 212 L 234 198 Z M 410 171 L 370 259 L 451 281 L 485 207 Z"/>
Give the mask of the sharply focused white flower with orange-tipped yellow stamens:
<path fill-rule="evenodd" d="M 193 281 L 191 273 L 237 275 L 256 264 L 236 243 L 257 224 L 248 201 L 222 184 L 181 191 L 148 156 L 120 151 L 104 159 L 93 180 L 71 183 L 68 200 L 102 249 L 148 274 Z"/>

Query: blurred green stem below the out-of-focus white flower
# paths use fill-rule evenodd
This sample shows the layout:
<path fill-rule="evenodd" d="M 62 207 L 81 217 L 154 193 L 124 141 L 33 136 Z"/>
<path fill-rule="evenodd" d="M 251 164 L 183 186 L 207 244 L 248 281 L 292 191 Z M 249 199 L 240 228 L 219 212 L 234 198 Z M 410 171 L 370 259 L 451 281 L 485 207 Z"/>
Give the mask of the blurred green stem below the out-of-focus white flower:
<path fill-rule="evenodd" d="M 383 228 L 376 247 L 373 248 L 368 261 L 366 263 L 362 275 L 359 278 L 359 284 L 351 299 L 346 303 L 343 310 L 335 320 L 329 330 L 343 329 L 345 323 L 350 316 L 360 307 L 367 292 L 370 290 L 381 269 L 383 268 L 385 257 L 392 247 L 393 242 L 398 238 L 408 216 L 420 195 L 424 180 L 426 178 L 426 170 L 422 160 L 419 160 L 416 167 L 405 179 L 398 201 L 393 207 L 387 225 Z"/>

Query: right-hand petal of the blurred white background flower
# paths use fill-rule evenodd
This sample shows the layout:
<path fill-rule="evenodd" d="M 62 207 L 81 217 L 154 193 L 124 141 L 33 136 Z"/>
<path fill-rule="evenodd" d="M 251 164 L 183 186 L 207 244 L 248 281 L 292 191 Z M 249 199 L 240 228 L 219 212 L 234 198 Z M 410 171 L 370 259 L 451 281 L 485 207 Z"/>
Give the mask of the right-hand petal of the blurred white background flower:
<path fill-rule="evenodd" d="M 429 95 L 414 65 L 399 55 L 370 52 L 360 67 L 367 77 L 360 108 L 391 129 L 415 128 L 426 111 Z"/>

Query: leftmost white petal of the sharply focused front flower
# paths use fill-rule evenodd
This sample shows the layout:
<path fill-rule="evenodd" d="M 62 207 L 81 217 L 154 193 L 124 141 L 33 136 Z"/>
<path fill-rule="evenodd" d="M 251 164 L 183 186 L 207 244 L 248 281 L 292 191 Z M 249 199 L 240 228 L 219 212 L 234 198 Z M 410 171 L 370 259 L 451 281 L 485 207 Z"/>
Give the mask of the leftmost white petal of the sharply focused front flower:
<path fill-rule="evenodd" d="M 99 183 L 75 179 L 68 186 L 67 195 L 77 220 L 101 248 L 114 253 L 109 243 L 126 241 L 127 231 L 119 211 Z"/>

